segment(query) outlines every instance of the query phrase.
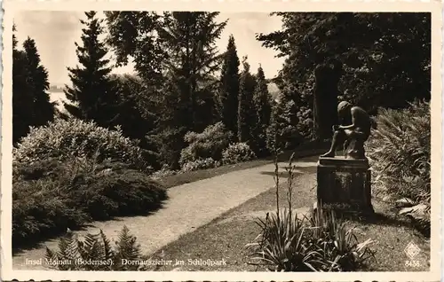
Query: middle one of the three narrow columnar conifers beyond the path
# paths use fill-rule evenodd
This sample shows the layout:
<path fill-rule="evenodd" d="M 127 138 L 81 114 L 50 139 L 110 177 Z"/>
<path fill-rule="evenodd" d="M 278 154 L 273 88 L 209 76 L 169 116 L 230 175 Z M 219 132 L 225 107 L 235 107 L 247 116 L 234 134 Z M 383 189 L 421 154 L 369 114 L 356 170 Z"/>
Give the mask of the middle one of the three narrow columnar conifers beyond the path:
<path fill-rule="evenodd" d="M 251 144 L 253 130 L 251 126 L 256 122 L 256 113 L 253 104 L 255 78 L 250 74 L 250 64 L 248 57 L 242 59 L 242 74 L 239 85 L 239 106 L 237 114 L 237 137 L 239 142 Z"/>

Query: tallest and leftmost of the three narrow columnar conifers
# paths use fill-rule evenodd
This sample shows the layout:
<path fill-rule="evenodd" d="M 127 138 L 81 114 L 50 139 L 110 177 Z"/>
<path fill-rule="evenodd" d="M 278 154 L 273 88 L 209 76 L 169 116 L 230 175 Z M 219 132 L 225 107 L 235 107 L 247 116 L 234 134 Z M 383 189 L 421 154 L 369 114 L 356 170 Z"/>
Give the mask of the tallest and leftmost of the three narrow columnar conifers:
<path fill-rule="evenodd" d="M 226 128 L 234 133 L 237 133 L 237 111 L 239 106 L 239 65 L 240 61 L 237 56 L 234 36 L 230 35 L 220 75 L 218 114 Z"/>

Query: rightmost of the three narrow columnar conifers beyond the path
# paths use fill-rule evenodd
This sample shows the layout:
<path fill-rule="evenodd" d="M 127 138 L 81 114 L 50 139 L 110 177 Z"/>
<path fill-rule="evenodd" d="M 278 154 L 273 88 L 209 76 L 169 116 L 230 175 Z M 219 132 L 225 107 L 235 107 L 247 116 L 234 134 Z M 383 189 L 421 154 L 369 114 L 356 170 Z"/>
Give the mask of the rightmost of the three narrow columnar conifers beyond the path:
<path fill-rule="evenodd" d="M 256 122 L 253 128 L 253 150 L 258 156 L 267 153 L 266 149 L 266 129 L 270 124 L 272 112 L 271 96 L 268 92 L 266 75 L 264 69 L 259 65 L 256 75 L 256 88 L 254 90 L 253 103 L 256 109 Z"/>

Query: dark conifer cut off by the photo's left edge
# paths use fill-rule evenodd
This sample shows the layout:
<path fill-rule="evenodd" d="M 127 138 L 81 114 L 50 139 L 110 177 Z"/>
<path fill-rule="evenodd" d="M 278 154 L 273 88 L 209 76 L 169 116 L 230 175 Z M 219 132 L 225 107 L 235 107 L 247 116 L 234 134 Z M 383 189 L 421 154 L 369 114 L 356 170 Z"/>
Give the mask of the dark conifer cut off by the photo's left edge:
<path fill-rule="evenodd" d="M 15 145 L 28 134 L 30 126 L 52 121 L 55 108 L 47 92 L 48 72 L 41 65 L 36 42 L 28 37 L 23 50 L 18 50 L 17 39 L 12 35 L 12 43 L 12 142 Z"/>

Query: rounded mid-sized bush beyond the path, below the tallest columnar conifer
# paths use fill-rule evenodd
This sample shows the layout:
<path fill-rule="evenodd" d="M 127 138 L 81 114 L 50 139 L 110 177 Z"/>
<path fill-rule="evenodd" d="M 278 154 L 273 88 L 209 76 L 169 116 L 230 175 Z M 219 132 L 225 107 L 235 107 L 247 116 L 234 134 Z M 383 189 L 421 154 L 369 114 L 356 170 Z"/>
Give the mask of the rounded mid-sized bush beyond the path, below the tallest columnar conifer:
<path fill-rule="evenodd" d="M 222 151 L 230 144 L 233 133 L 226 130 L 222 122 L 208 126 L 202 133 L 187 132 L 185 141 L 188 146 L 180 153 L 180 165 L 208 159 L 218 161 Z"/>

